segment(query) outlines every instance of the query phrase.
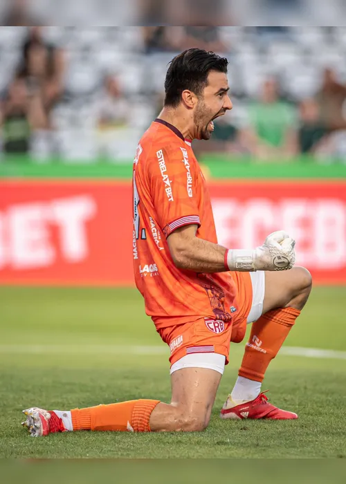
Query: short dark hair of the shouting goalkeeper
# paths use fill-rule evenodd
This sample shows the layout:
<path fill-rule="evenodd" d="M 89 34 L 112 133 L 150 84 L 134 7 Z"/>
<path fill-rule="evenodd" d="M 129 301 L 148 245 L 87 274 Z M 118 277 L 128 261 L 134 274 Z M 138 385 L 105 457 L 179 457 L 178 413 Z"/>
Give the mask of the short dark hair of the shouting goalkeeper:
<path fill-rule="evenodd" d="M 213 52 L 190 48 L 174 57 L 165 79 L 165 106 L 176 107 L 181 93 L 189 89 L 197 96 L 208 85 L 210 71 L 227 73 L 228 60 Z"/>

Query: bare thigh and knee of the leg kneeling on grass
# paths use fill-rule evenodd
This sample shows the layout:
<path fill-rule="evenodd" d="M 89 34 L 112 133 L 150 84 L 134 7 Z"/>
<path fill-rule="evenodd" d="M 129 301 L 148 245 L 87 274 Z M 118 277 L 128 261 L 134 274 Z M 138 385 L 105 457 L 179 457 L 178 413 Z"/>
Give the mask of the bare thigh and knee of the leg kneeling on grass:
<path fill-rule="evenodd" d="M 206 368 L 184 368 L 172 373 L 172 402 L 156 406 L 150 418 L 152 431 L 206 429 L 220 380 L 221 373 Z"/>

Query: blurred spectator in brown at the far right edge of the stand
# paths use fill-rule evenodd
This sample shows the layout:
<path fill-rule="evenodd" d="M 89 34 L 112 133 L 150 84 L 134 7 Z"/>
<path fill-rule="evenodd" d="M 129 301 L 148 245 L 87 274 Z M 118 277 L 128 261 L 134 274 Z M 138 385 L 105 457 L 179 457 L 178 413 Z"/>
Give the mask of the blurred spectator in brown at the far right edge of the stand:
<path fill-rule="evenodd" d="M 323 73 L 322 88 L 317 95 L 321 120 L 328 129 L 345 129 L 343 104 L 346 100 L 346 86 L 336 79 L 336 73 L 326 68 Z"/>

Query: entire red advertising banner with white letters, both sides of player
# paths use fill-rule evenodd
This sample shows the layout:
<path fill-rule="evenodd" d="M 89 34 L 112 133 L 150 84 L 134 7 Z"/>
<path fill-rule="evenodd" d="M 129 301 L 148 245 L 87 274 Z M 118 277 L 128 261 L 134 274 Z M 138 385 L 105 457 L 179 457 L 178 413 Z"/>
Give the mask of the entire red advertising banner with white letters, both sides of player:
<path fill-rule="evenodd" d="M 315 283 L 346 284 L 346 181 L 211 183 L 219 243 L 261 245 L 284 229 Z M 0 182 L 0 283 L 129 286 L 131 185 Z"/>

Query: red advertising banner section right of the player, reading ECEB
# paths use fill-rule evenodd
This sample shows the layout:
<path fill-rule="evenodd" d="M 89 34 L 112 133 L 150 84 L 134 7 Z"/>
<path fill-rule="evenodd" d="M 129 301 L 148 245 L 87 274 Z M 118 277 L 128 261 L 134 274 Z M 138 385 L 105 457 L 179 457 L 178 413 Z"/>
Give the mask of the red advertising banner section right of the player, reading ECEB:
<path fill-rule="evenodd" d="M 254 248 L 286 230 L 295 263 L 315 284 L 346 284 L 346 180 L 229 183 L 210 187 L 219 243 Z"/>

